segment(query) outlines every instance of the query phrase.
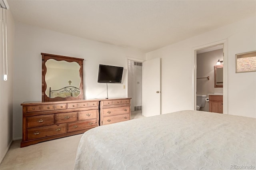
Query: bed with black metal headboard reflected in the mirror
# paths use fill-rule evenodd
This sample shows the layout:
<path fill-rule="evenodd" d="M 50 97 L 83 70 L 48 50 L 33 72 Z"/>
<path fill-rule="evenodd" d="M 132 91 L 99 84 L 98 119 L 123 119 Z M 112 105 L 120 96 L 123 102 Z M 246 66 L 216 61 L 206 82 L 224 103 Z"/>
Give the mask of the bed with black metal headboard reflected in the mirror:
<path fill-rule="evenodd" d="M 80 94 L 80 89 L 74 86 L 66 86 L 58 90 L 52 90 L 50 87 L 50 98 L 54 97 L 77 97 Z"/>

